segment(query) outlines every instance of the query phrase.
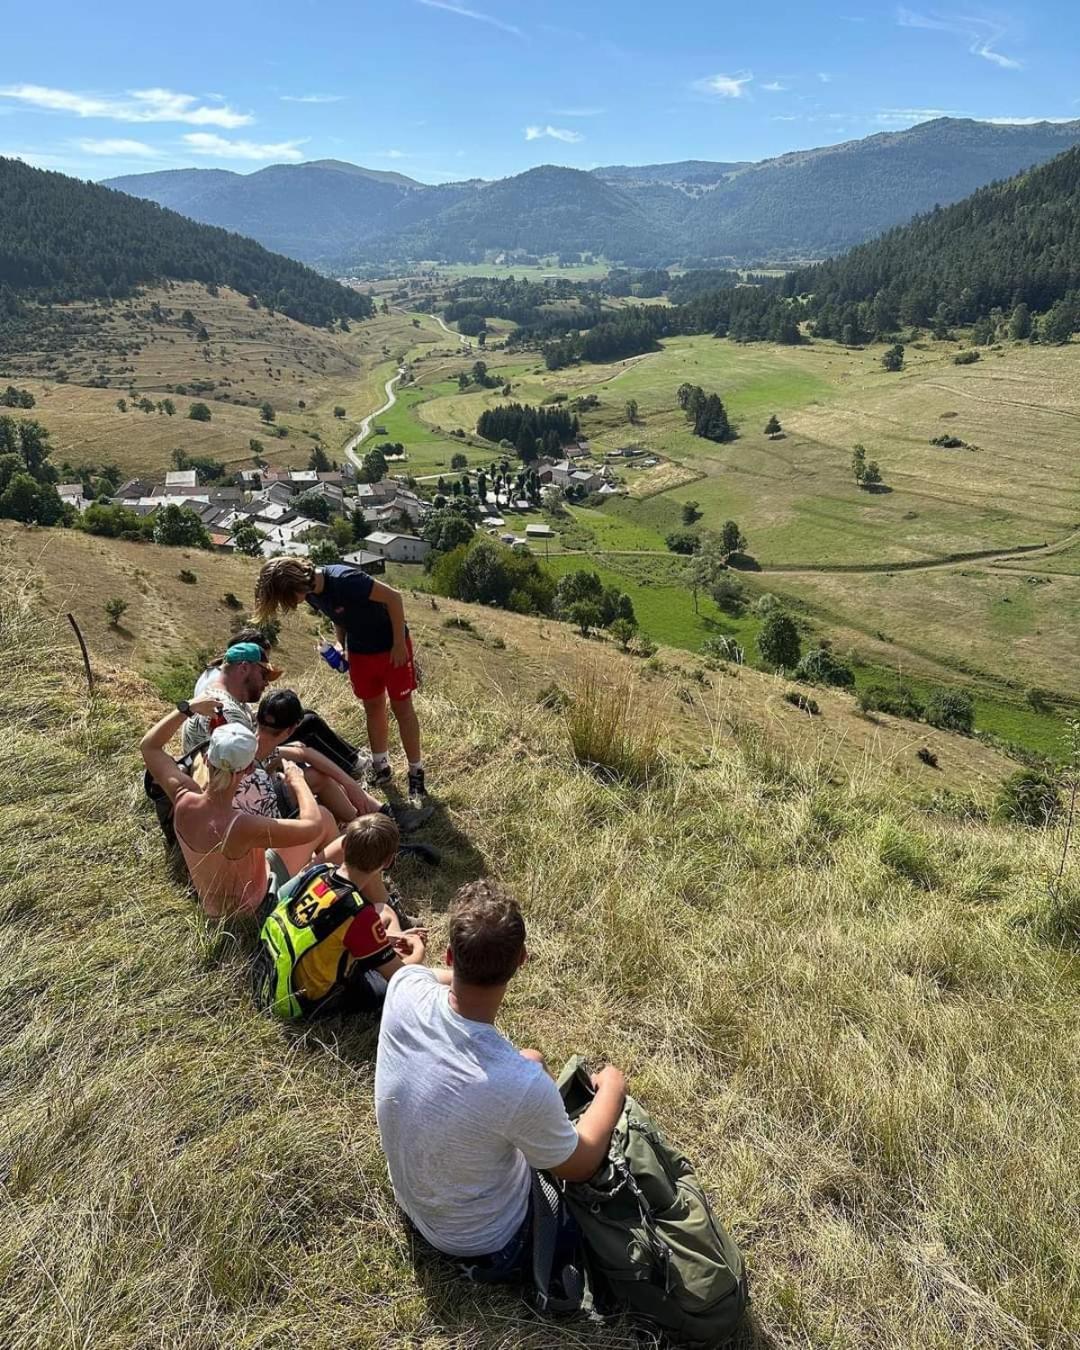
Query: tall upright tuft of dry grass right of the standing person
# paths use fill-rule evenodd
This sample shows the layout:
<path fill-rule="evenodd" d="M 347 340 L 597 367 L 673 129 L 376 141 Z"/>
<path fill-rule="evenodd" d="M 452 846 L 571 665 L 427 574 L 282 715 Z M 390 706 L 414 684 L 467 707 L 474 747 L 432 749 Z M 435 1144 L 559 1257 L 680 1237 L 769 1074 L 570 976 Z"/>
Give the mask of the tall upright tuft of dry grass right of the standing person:
<path fill-rule="evenodd" d="M 579 764 L 601 779 L 640 787 L 660 771 L 660 728 L 648 716 L 647 695 L 629 668 L 606 674 L 583 667 L 563 711 L 570 745 Z"/>

